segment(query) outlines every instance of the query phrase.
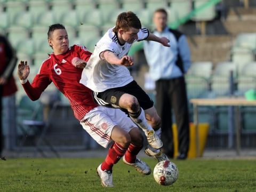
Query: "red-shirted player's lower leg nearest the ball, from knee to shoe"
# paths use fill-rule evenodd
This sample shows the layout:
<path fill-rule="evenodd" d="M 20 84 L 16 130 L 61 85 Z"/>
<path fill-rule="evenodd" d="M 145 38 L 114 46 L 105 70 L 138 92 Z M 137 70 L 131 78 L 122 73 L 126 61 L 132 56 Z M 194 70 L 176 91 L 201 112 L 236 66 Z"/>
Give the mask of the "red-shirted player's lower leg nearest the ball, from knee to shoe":
<path fill-rule="evenodd" d="M 141 161 L 141 159 L 137 158 L 143 146 L 143 137 L 138 128 L 132 129 L 129 134 L 131 135 L 132 142 L 123 156 L 123 161 L 125 164 L 133 166 L 138 172 L 148 175 L 151 173 L 150 167 Z"/>

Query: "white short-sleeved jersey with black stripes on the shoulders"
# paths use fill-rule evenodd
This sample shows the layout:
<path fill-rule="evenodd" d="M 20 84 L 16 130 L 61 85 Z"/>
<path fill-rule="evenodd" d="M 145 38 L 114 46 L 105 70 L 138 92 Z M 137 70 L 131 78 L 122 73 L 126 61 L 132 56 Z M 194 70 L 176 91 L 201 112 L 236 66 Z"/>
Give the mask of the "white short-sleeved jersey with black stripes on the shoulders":
<path fill-rule="evenodd" d="M 148 29 L 142 28 L 138 33 L 138 39 L 135 41 L 142 41 L 148 35 Z M 129 52 L 131 45 L 129 43 L 121 44 L 117 34 L 113 32 L 113 28 L 109 29 L 95 46 L 91 58 L 83 69 L 80 83 L 95 92 L 103 92 L 107 89 L 122 87 L 132 82 L 133 77 L 127 67 L 111 65 L 106 60 L 100 58 L 100 54 L 108 50 L 115 53 L 121 59 Z"/>

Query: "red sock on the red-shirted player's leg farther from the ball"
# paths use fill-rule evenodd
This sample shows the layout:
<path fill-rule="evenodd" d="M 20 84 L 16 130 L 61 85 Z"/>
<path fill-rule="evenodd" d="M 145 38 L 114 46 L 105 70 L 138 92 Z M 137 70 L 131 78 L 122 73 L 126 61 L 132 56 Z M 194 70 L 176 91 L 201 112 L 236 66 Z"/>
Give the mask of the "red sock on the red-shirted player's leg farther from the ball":
<path fill-rule="evenodd" d="M 108 150 L 108 155 L 105 161 L 101 164 L 101 170 L 111 171 L 114 164 L 116 164 L 121 157 L 124 156 L 127 149 L 123 148 L 118 143 L 114 143 Z"/>

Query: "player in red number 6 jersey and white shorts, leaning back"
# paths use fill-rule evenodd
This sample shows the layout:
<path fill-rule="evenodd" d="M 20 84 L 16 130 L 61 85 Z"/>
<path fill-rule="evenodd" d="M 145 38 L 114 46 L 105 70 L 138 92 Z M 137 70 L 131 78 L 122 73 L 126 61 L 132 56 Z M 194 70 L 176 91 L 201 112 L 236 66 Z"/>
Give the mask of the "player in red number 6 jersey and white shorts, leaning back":
<path fill-rule="evenodd" d="M 47 35 L 53 53 L 43 61 L 33 83 L 27 80 L 27 61 L 18 65 L 18 76 L 28 97 L 39 99 L 53 82 L 69 99 L 75 117 L 95 141 L 105 148 L 114 141 L 105 161 L 97 168 L 103 187 L 114 186 L 112 167 L 121 157 L 125 164 L 135 167 L 140 173 L 150 174 L 150 167 L 136 157 L 143 145 L 138 127 L 121 110 L 95 104 L 92 91 L 79 83 L 91 53 L 81 45 L 69 47 L 67 31 L 61 24 L 51 25 Z"/>

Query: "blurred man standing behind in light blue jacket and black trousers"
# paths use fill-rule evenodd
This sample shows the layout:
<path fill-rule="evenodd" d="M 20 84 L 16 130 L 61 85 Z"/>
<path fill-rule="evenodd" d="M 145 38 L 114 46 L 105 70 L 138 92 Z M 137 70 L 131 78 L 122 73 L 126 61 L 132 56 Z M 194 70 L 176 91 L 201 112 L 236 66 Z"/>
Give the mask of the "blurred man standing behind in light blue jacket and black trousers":
<path fill-rule="evenodd" d="M 154 35 L 170 39 L 171 47 L 146 41 L 144 50 L 149 74 L 156 81 L 156 109 L 162 118 L 163 151 L 173 157 L 172 108 L 178 127 L 179 156 L 186 159 L 189 147 L 188 102 L 184 74 L 190 67 L 190 51 L 186 36 L 167 26 L 167 12 L 154 12 Z"/>

